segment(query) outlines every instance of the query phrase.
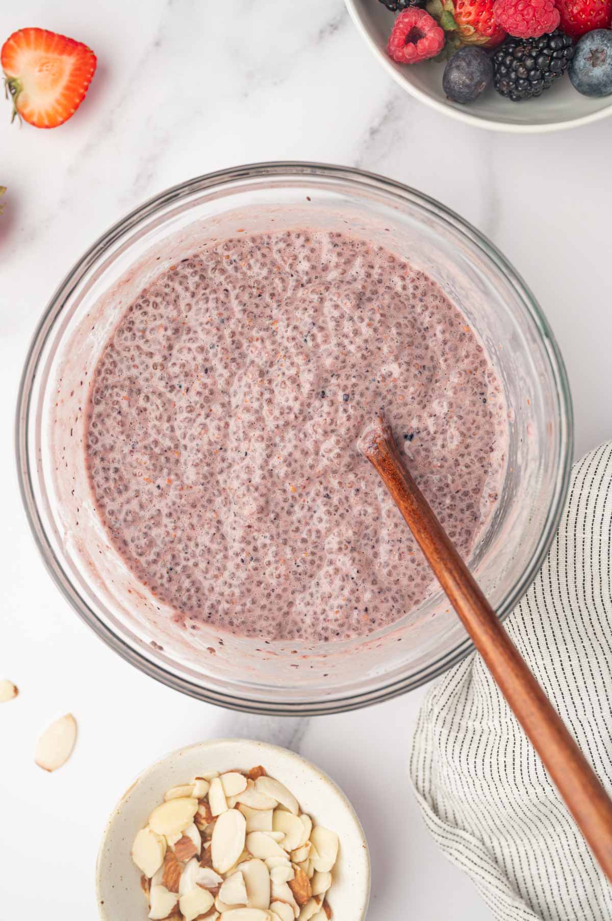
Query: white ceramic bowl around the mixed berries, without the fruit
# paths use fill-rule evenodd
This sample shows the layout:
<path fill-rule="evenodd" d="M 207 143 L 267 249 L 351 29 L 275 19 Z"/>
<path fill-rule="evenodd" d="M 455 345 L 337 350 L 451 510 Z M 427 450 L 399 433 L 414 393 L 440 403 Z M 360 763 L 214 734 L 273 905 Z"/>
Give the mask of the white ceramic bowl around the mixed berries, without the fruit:
<path fill-rule="evenodd" d="M 588 99 L 581 96 L 564 77 L 539 99 L 511 102 L 494 90 L 468 106 L 446 99 L 442 88 L 444 64 L 396 64 L 387 54 L 387 39 L 396 14 L 379 0 L 344 0 L 352 20 L 368 48 L 400 87 L 437 111 L 459 122 L 489 128 L 491 131 L 536 134 L 560 131 L 596 122 L 612 113 L 612 96 Z"/>

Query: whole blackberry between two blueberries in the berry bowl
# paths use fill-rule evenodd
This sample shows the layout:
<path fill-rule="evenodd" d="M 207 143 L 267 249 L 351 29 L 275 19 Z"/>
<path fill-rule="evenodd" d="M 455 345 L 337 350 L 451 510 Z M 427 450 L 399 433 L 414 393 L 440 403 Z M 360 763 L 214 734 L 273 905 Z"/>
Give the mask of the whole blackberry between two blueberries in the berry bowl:
<path fill-rule="evenodd" d="M 539 39 L 508 38 L 493 54 L 494 87 L 513 102 L 541 96 L 563 76 L 573 52 L 572 38 L 560 29 Z"/>

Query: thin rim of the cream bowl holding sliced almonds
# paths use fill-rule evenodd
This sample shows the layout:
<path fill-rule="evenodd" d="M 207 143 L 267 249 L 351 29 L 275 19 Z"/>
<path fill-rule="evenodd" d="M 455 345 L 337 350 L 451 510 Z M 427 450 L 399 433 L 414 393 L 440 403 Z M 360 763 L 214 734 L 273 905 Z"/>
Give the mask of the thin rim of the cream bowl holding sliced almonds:
<path fill-rule="evenodd" d="M 271 754 L 277 758 L 284 758 L 289 762 L 297 762 L 300 766 L 305 767 L 307 771 L 318 776 L 318 779 L 321 780 L 324 784 L 327 784 L 331 788 L 336 799 L 341 803 L 342 808 L 347 812 L 349 818 L 352 821 L 352 824 L 355 826 L 356 834 L 361 838 L 362 847 L 360 848 L 359 853 L 363 857 L 363 876 L 360 876 L 360 880 L 364 880 L 364 895 L 363 895 L 363 909 L 361 914 L 358 917 L 355 917 L 354 921 L 364 921 L 365 915 L 367 915 L 368 906 L 370 904 L 370 892 L 372 887 L 372 866 L 370 860 L 370 849 L 367 845 L 367 838 L 364 834 L 364 827 L 360 822 L 359 816 L 357 815 L 356 810 L 354 809 L 351 800 L 347 797 L 344 790 L 338 786 L 335 780 L 333 780 L 326 771 L 318 767 L 317 764 L 309 761 L 303 755 L 298 754 L 297 752 L 292 752 L 291 749 L 283 748 L 282 745 L 274 745 L 271 742 L 260 741 L 258 739 L 239 739 L 239 738 L 229 738 L 229 739 L 208 739 L 202 742 L 193 742 L 191 745 L 184 745 L 179 749 L 174 749 L 172 752 L 167 752 L 166 754 L 160 755 L 159 758 L 156 758 L 152 764 L 148 764 L 136 777 L 133 779 L 132 783 L 121 795 L 120 799 L 117 800 L 112 810 L 110 811 L 109 818 L 107 819 L 104 829 L 100 837 L 100 843 L 98 845 L 98 856 L 96 857 L 96 902 L 98 905 L 98 914 L 101 918 L 101 921 L 113 921 L 103 909 L 101 899 L 101 882 L 100 882 L 100 873 L 101 873 L 101 864 L 103 858 L 104 848 L 110 834 L 110 829 L 113 823 L 116 821 L 121 809 L 130 797 L 133 792 L 133 789 L 137 787 L 142 781 L 144 781 L 156 768 L 160 767 L 162 764 L 171 763 L 174 759 L 180 758 L 186 752 L 191 752 L 194 750 L 210 750 L 215 749 L 220 746 L 222 747 L 232 747 L 232 746 L 242 746 L 242 745 L 254 745 L 256 748 L 261 749 L 264 752 L 271 752 Z M 299 799 L 299 797 L 298 797 Z"/>

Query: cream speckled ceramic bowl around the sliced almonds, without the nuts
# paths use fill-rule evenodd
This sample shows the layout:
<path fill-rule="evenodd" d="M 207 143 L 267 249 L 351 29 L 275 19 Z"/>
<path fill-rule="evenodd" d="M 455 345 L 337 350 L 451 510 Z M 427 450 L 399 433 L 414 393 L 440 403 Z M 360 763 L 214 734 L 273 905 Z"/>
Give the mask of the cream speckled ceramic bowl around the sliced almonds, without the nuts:
<path fill-rule="evenodd" d="M 112 811 L 98 852 L 96 887 L 102 921 L 145 921 L 147 917 L 140 873 L 130 852 L 135 834 L 167 789 L 208 771 L 248 771 L 256 764 L 288 787 L 316 824 L 338 834 L 341 845 L 329 890 L 333 918 L 363 921 L 370 899 L 370 857 L 351 803 L 314 764 L 287 749 L 246 739 L 200 742 L 170 752 L 147 767 L 126 790 Z"/>

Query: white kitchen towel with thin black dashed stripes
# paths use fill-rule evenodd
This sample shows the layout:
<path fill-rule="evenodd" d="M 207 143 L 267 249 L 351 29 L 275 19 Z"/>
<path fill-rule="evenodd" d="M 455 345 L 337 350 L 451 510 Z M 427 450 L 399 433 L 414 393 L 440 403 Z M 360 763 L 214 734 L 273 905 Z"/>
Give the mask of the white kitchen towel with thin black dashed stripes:
<path fill-rule="evenodd" d="M 508 633 L 612 792 L 612 442 L 572 472 Z M 612 887 L 478 655 L 428 695 L 410 774 L 438 845 L 500 921 L 610 921 Z"/>

